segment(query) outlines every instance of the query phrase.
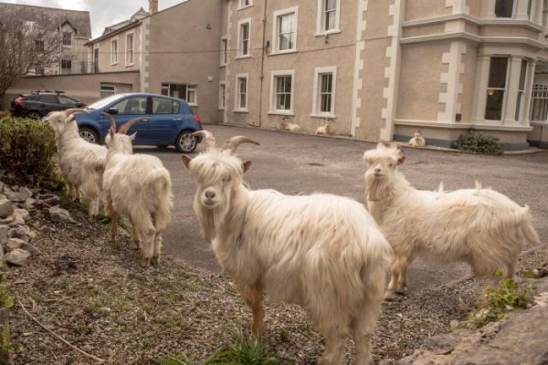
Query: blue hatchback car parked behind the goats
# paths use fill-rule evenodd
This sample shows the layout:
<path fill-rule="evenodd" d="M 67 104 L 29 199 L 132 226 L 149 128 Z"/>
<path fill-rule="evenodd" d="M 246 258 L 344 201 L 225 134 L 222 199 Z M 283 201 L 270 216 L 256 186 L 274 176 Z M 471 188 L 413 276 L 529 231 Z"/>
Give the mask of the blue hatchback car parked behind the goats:
<path fill-rule="evenodd" d="M 128 120 L 146 118 L 130 130 L 137 132 L 133 144 L 174 145 L 177 151 L 189 153 L 201 141 L 192 133 L 202 130 L 202 123 L 183 99 L 148 93 L 116 94 L 90 104 L 86 110 L 87 114 L 75 114 L 76 121 L 80 136 L 92 143 L 105 141 L 111 128 L 111 121 L 102 112 L 113 115 L 118 128 Z"/>

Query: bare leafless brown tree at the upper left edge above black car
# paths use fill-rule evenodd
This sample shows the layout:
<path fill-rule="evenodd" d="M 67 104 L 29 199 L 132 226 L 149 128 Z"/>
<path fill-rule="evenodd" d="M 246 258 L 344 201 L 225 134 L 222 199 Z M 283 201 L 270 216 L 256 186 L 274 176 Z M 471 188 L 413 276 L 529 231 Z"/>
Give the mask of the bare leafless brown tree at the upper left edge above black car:
<path fill-rule="evenodd" d="M 59 62 L 58 24 L 25 8 L 0 12 L 0 109 L 7 89 L 32 68 L 37 73 Z"/>

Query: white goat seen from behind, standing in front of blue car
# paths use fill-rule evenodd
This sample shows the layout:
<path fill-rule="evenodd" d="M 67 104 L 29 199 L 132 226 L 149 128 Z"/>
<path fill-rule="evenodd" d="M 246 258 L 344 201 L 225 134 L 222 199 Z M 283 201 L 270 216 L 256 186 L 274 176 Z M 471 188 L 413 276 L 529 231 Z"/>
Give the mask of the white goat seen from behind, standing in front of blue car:
<path fill-rule="evenodd" d="M 105 213 L 111 217 L 111 239 L 116 240 L 119 214 L 132 224 L 133 242 L 141 248 L 142 266 L 158 265 L 162 250 L 162 233 L 171 219 L 171 177 L 163 163 L 155 156 L 132 154 L 131 136 L 126 132 L 144 118 L 129 120 L 116 130 L 111 114 L 111 130 L 107 164 L 103 177 Z M 141 238 L 142 237 L 142 238 Z M 141 241 L 142 239 L 142 241 Z"/>

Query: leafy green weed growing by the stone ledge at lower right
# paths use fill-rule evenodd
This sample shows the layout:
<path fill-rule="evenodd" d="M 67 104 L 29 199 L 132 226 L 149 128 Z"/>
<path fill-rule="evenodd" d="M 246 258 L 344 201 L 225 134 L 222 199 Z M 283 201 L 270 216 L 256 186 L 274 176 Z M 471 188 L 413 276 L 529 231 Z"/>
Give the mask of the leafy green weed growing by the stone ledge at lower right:
<path fill-rule="evenodd" d="M 501 272 L 497 273 L 500 278 Z M 500 287 L 487 287 L 485 300 L 478 310 L 469 314 L 462 323 L 466 328 L 482 328 L 490 322 L 503 319 L 506 313 L 518 308 L 531 308 L 534 305 L 533 285 L 522 286 L 510 277 L 501 279 Z"/>

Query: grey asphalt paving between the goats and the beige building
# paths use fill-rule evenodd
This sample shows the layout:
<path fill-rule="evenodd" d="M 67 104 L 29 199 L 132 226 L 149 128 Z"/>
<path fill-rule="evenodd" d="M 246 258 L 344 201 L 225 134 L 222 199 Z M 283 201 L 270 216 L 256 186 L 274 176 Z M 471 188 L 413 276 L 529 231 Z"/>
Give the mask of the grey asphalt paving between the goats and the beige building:
<path fill-rule="evenodd" d="M 206 125 L 222 143 L 234 135 L 247 135 L 260 146 L 242 144 L 238 156 L 251 160 L 246 182 L 252 189 L 272 188 L 281 193 L 335 193 L 364 203 L 362 155 L 374 143 L 300 133 L 258 130 L 221 125 Z M 196 152 L 203 151 L 198 146 Z M 163 236 L 163 253 L 183 259 L 188 265 L 217 271 L 215 255 L 200 236 L 192 208 L 195 183 L 174 150 L 139 148 L 136 152 L 160 157 L 171 172 L 174 191 L 174 215 Z M 522 155 L 482 156 L 447 151 L 406 149 L 401 171 L 418 189 L 435 190 L 443 181 L 446 190 L 470 188 L 479 180 L 508 195 L 520 204 L 528 204 L 533 224 L 548 243 L 548 151 Z M 466 275 L 466 266 L 425 265 L 414 263 L 410 270 L 410 288 L 437 285 Z"/>

